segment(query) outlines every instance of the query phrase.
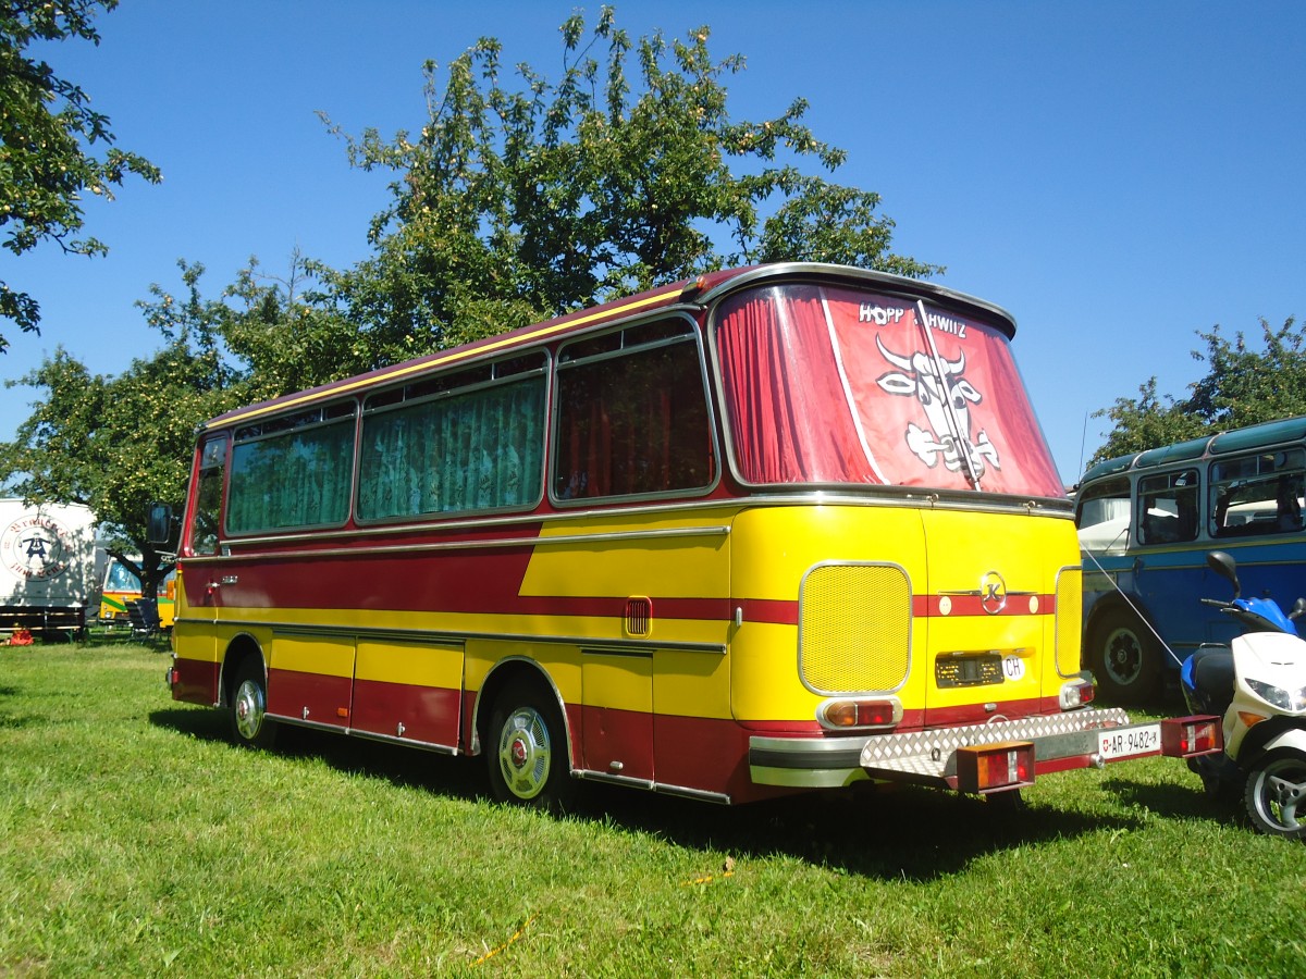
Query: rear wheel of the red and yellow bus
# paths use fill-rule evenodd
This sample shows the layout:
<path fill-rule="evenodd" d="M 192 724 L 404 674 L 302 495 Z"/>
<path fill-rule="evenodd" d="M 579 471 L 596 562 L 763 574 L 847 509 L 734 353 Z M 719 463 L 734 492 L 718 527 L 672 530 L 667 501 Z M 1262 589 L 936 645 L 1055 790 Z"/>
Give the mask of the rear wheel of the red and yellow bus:
<path fill-rule="evenodd" d="M 515 681 L 495 700 L 486 752 L 503 803 L 565 812 L 575 798 L 562 711 L 539 684 Z"/>

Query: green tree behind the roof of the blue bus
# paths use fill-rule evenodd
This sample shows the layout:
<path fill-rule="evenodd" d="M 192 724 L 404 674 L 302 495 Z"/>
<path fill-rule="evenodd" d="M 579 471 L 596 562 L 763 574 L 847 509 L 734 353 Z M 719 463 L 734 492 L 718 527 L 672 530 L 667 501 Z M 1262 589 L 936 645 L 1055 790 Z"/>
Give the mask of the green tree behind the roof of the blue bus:
<path fill-rule="evenodd" d="M 1293 317 L 1275 329 L 1260 320 L 1262 349 L 1254 350 L 1239 332 L 1230 341 L 1213 326 L 1198 330 L 1205 351 L 1192 358 L 1209 364 L 1207 375 L 1188 385 L 1190 397 L 1158 397 L 1156 377 L 1139 386 L 1139 397 L 1118 398 L 1094 418 L 1114 428 L 1091 459 L 1115 458 L 1170 443 L 1215 435 L 1229 428 L 1306 415 L 1306 333 Z"/>

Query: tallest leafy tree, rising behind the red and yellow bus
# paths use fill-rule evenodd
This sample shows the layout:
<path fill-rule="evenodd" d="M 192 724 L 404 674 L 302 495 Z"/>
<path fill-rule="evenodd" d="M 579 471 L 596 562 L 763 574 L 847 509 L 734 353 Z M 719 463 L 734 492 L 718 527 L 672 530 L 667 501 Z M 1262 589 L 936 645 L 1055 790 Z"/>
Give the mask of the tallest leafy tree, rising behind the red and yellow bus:
<path fill-rule="evenodd" d="M 483 38 L 443 90 L 426 64 L 419 133 L 346 137 L 354 166 L 397 174 L 372 221 L 376 255 L 323 270 L 366 349 L 355 367 L 731 265 L 942 270 L 889 251 L 878 194 L 799 167 L 845 159 L 803 124 L 804 101 L 760 123 L 730 119 L 725 80 L 744 63 L 712 60 L 707 27 L 632 42 L 605 7 L 588 40 L 580 14 L 562 34 L 556 84 L 522 64 L 511 86 L 500 43 Z"/>

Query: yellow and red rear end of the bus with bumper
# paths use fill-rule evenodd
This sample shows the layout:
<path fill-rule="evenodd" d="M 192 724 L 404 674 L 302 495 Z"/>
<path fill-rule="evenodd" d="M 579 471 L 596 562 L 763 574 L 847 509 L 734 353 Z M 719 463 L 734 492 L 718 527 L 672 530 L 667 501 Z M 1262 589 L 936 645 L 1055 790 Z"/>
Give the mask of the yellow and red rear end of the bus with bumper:
<path fill-rule="evenodd" d="M 751 781 L 990 792 L 1161 753 L 1161 724 L 1088 706 L 1071 506 L 1013 324 L 887 285 L 759 282 L 714 315 L 750 496 L 730 538 Z"/>

